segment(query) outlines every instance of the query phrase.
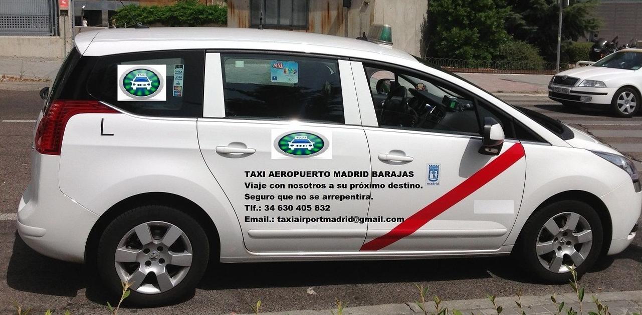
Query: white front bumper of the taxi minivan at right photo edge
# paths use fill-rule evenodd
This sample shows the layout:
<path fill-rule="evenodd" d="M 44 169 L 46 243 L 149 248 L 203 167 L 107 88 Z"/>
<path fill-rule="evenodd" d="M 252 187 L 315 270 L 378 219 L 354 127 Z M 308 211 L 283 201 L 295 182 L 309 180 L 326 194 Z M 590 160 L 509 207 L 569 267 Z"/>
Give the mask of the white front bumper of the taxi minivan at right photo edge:
<path fill-rule="evenodd" d="M 602 196 L 609 209 L 612 223 L 611 246 L 607 255 L 620 254 L 636 237 L 640 214 L 642 213 L 642 191 L 637 192 L 632 182 L 627 181 Z"/>

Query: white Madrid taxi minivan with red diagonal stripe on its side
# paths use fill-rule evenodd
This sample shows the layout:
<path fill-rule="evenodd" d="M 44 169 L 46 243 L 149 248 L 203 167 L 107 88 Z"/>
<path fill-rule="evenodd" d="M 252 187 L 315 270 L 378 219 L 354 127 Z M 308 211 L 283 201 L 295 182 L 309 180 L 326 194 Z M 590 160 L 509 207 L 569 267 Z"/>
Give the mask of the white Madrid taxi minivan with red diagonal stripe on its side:
<path fill-rule="evenodd" d="M 209 262 L 513 254 L 566 282 L 638 229 L 630 159 L 367 40 L 81 33 L 41 96 L 19 234 L 140 305 Z"/>

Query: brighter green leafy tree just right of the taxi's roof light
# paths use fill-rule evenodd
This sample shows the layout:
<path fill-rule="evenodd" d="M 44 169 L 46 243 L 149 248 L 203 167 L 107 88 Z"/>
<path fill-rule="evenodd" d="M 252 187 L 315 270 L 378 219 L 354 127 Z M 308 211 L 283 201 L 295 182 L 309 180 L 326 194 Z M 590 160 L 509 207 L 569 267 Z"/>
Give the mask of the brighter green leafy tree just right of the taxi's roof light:
<path fill-rule="evenodd" d="M 424 28 L 426 56 L 491 60 L 510 40 L 503 0 L 430 0 Z"/>

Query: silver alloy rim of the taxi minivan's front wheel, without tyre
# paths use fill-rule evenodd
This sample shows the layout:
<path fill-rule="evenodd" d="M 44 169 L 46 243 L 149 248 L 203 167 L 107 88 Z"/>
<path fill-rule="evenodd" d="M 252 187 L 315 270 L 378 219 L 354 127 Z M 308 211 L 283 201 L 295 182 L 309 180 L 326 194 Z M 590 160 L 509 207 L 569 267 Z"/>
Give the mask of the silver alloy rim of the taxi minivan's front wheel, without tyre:
<path fill-rule="evenodd" d="M 546 270 L 568 272 L 565 265 L 580 266 L 591 252 L 593 231 L 580 214 L 560 213 L 550 218 L 541 230 L 535 245 L 537 258 Z"/>

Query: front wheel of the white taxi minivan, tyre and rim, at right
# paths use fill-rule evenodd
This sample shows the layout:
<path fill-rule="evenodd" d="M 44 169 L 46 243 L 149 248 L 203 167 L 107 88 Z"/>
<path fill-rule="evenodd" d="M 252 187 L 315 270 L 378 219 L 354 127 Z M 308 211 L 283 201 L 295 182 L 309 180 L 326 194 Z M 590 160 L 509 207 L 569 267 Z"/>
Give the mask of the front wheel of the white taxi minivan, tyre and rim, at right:
<path fill-rule="evenodd" d="M 566 283 L 575 266 L 586 273 L 600 255 L 600 217 L 585 202 L 561 200 L 544 206 L 525 223 L 514 256 L 525 270 L 544 282 Z"/>

